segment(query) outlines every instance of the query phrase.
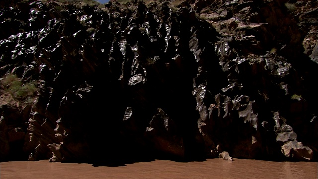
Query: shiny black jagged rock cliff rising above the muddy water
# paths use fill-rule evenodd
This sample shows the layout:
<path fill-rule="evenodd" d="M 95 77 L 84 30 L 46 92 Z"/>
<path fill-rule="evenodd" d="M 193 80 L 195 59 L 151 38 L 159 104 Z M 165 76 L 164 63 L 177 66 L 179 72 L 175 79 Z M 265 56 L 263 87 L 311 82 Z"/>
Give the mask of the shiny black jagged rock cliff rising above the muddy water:
<path fill-rule="evenodd" d="M 1 161 L 317 161 L 317 6 L 1 2 Z"/>

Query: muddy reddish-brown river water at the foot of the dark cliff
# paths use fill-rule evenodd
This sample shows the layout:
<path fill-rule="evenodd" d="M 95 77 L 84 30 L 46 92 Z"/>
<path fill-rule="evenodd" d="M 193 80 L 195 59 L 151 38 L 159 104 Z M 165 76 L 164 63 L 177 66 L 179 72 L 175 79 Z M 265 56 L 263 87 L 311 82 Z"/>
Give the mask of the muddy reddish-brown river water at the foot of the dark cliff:
<path fill-rule="evenodd" d="M 318 179 L 317 162 L 207 159 L 203 162 L 154 160 L 117 167 L 77 163 L 0 163 L 0 179 Z"/>

